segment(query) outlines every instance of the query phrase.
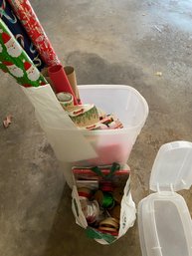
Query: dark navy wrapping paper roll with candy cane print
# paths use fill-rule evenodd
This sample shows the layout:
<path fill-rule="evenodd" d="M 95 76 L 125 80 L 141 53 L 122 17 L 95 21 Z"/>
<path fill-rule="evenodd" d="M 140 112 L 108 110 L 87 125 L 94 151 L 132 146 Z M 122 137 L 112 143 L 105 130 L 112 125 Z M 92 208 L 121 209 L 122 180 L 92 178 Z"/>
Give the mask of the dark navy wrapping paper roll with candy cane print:
<path fill-rule="evenodd" d="M 0 17 L 15 36 L 21 47 L 25 50 L 27 55 L 33 61 L 38 70 L 44 68 L 44 63 L 40 58 L 40 55 L 36 47 L 31 42 L 25 29 L 20 21 L 17 19 L 12 7 L 5 0 L 0 0 Z"/>

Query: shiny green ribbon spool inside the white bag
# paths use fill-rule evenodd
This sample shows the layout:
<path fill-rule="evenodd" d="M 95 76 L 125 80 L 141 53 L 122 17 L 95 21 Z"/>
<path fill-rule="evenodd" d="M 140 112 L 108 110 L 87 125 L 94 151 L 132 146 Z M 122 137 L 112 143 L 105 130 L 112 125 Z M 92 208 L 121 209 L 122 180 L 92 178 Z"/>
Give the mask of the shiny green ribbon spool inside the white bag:
<path fill-rule="evenodd" d="M 95 199 L 102 208 L 112 208 L 114 206 L 114 199 L 112 195 L 108 192 L 102 192 L 97 190 L 95 194 Z"/>

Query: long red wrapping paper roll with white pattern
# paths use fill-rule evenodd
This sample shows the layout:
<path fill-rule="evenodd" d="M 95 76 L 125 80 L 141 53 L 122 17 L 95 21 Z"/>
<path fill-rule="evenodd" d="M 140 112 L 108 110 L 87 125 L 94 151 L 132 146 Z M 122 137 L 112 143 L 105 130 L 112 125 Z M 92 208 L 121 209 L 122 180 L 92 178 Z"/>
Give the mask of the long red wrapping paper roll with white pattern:
<path fill-rule="evenodd" d="M 28 0 L 8 0 L 47 66 L 60 61 Z"/>

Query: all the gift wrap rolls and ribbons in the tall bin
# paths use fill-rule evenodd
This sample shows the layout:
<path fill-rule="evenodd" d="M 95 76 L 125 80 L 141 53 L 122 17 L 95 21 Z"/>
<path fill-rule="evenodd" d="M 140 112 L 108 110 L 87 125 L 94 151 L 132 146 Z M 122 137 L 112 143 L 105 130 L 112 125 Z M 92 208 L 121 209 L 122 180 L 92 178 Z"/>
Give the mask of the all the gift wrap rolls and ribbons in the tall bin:
<path fill-rule="evenodd" d="M 50 84 L 78 128 L 122 128 L 113 115 L 82 103 L 73 67 L 63 67 L 29 0 L 0 0 L 0 69 L 23 87 Z"/>

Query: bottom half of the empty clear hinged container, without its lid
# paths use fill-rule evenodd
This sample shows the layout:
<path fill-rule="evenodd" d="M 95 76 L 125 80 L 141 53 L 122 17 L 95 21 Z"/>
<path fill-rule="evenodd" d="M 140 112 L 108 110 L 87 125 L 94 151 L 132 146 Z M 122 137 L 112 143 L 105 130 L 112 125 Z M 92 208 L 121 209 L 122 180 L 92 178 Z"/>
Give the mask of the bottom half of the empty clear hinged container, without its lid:
<path fill-rule="evenodd" d="M 152 193 L 138 204 L 142 256 L 192 256 L 192 223 L 184 198 Z"/>

